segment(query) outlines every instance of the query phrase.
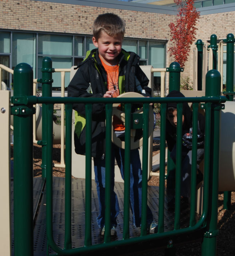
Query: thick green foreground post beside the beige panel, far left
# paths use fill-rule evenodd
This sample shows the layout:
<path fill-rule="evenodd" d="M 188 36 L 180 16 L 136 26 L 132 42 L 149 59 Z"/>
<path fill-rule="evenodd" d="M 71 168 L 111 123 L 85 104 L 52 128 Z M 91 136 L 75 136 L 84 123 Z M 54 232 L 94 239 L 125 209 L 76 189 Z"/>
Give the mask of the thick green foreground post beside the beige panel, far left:
<path fill-rule="evenodd" d="M 14 255 L 33 253 L 33 137 L 32 105 L 17 97 L 33 94 L 33 71 L 20 63 L 14 69 Z"/>

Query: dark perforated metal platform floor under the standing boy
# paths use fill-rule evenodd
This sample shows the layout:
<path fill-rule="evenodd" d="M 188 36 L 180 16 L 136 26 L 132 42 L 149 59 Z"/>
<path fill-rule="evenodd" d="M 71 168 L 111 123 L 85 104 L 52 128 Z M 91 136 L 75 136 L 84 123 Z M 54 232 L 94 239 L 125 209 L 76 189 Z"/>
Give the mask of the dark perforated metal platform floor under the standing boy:
<path fill-rule="evenodd" d="M 64 247 L 64 178 L 53 178 L 53 236 L 56 244 L 61 248 Z M 34 178 L 34 256 L 47 255 L 47 240 L 46 240 L 46 188 L 44 188 L 42 178 Z M 122 240 L 122 224 L 123 224 L 123 210 L 124 210 L 124 183 L 115 182 L 115 192 L 118 196 L 120 214 L 117 217 L 117 237 L 115 240 Z M 40 195 L 42 195 L 40 200 Z M 96 222 L 98 216 L 99 204 L 97 199 L 96 184 L 92 181 L 91 191 L 91 221 L 92 221 L 92 244 L 102 243 L 100 230 Z M 164 216 L 164 230 L 174 229 L 174 213 L 168 212 L 166 205 L 169 198 L 165 196 L 165 216 Z M 40 201 L 38 210 L 37 206 Z M 13 184 L 12 184 L 12 234 L 13 234 Z M 154 221 L 158 221 L 158 187 L 148 186 L 148 205 L 152 210 Z M 85 180 L 79 178 L 72 179 L 72 247 L 80 247 L 84 245 L 85 234 Z M 181 212 L 180 226 L 188 226 L 189 210 Z M 132 213 L 130 212 L 130 237 L 140 236 L 140 228 L 132 225 Z M 12 236 L 13 237 L 13 236 Z M 12 238 L 12 251 L 14 241 Z M 54 254 L 49 248 L 49 253 Z"/>

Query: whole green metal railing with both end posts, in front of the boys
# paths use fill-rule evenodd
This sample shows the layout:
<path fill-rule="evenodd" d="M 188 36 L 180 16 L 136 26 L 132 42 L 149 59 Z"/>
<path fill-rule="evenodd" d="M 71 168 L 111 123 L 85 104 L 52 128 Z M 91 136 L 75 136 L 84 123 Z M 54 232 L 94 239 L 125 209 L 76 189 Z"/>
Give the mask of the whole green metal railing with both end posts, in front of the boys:
<path fill-rule="evenodd" d="M 176 64 L 174 64 L 176 65 Z M 177 65 L 176 65 L 177 66 Z M 180 72 L 178 69 L 176 72 Z M 170 75 L 171 77 L 171 75 Z M 173 74 L 179 80 L 179 74 Z M 14 71 L 14 97 L 12 97 L 12 114 L 14 116 L 14 229 L 15 229 L 15 255 L 33 255 L 33 225 L 32 225 L 32 105 L 36 103 L 45 106 L 46 138 L 41 142 L 46 147 L 46 225 L 47 243 L 56 255 L 77 255 L 88 252 L 106 251 L 110 248 L 143 248 L 153 243 L 154 246 L 171 249 L 179 239 L 195 236 L 203 238 L 202 255 L 208 255 L 208 250 L 216 255 L 215 220 L 217 219 L 218 196 L 218 154 L 221 103 L 226 101 L 225 96 L 219 96 L 220 74 L 211 70 L 207 75 L 207 97 L 197 98 L 61 98 L 61 97 L 35 97 L 32 96 L 31 67 L 28 64 L 18 64 Z M 215 87 L 215 89 L 212 89 Z M 23 89 L 22 89 L 23 88 Z M 21 91 L 22 90 L 22 91 Z M 141 235 L 129 237 L 129 154 L 130 154 L 130 128 L 132 122 L 131 104 L 143 103 L 143 163 L 142 163 L 142 219 Z M 167 102 L 177 103 L 177 162 L 176 162 L 176 208 L 174 228 L 164 231 L 164 198 L 165 198 L 165 125 Z M 193 163 L 192 163 L 192 194 L 189 226 L 180 227 L 180 172 L 181 172 L 181 134 L 182 134 L 182 103 L 193 103 L 193 129 L 197 129 L 198 105 L 202 103 L 205 109 L 205 157 L 204 157 L 204 189 L 203 210 L 199 221 L 195 221 L 196 204 L 196 133 L 193 135 Z M 64 103 L 66 112 L 66 176 L 65 176 L 65 226 L 64 248 L 56 245 L 53 238 L 52 225 L 52 139 L 53 139 L 53 109 L 54 104 Z M 86 106 L 86 182 L 85 182 L 85 240 L 84 246 L 72 248 L 71 236 L 71 124 L 73 103 L 85 103 Z M 105 232 L 104 242 L 92 244 L 91 234 L 91 108 L 93 103 L 106 104 L 106 191 L 105 191 L 105 226 L 110 226 L 110 147 L 111 147 L 111 115 L 113 103 L 125 104 L 125 181 L 124 181 L 124 219 L 122 240 L 111 241 L 110 233 Z M 146 235 L 146 205 L 147 205 L 147 173 L 148 173 L 148 116 L 149 103 L 161 104 L 161 136 L 160 136 L 160 185 L 159 185 L 159 211 L 158 233 Z M 43 117 L 45 118 L 45 117 Z M 23 201 L 23 203 L 22 203 Z M 216 211 L 215 211 L 216 209 Z M 24 226 L 22 226 L 22 223 Z M 26 224 L 27 223 L 27 224 Z M 188 238 L 187 238 L 188 239 Z"/>

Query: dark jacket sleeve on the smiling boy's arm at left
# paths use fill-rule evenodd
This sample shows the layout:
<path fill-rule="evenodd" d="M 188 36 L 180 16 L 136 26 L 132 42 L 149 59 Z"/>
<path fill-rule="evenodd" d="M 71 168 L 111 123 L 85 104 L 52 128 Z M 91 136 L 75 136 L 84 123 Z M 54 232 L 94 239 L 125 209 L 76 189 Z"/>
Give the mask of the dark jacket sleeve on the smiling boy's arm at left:
<path fill-rule="evenodd" d="M 75 73 L 73 79 L 68 85 L 68 97 L 94 97 L 102 98 L 102 93 L 93 94 L 89 78 L 90 72 L 86 67 L 81 66 Z M 85 104 L 74 103 L 73 109 L 85 116 Z M 105 105 L 103 103 L 94 103 L 92 107 L 92 119 L 103 121 L 105 119 Z"/>

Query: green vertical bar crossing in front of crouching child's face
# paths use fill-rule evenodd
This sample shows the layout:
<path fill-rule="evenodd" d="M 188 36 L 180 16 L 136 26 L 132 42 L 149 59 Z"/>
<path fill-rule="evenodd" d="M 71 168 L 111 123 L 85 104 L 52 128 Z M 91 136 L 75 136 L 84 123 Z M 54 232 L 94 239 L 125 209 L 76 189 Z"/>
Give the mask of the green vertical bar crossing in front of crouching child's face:
<path fill-rule="evenodd" d="M 175 189 L 175 230 L 180 228 L 181 162 L 182 162 L 182 114 L 183 103 L 177 103 L 176 128 L 176 189 Z"/>

